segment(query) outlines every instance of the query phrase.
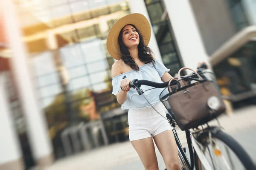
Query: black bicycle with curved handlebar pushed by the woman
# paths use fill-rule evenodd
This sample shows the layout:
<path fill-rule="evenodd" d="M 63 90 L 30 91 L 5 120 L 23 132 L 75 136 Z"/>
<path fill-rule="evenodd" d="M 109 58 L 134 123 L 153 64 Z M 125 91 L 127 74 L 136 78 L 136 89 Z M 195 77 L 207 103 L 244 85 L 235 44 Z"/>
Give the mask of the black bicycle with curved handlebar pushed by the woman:
<path fill-rule="evenodd" d="M 208 80 L 204 73 L 206 73 L 204 72 L 204 68 L 200 68 L 198 74 L 205 80 Z M 197 76 L 197 74 L 190 74 L 181 78 L 183 81 L 189 82 L 190 80 L 195 80 Z M 130 82 L 130 88 L 136 88 L 137 93 L 134 93 L 132 96 L 135 94 L 143 95 L 143 93 L 145 93 L 145 90 L 140 89 L 141 85 L 151 86 L 153 88 L 167 88 L 168 86 L 173 88 L 174 85 L 177 85 L 177 81 L 169 85 L 169 82 L 156 83 L 147 80 L 134 79 Z M 169 107 L 166 105 L 165 101 L 163 101 L 161 95 L 160 101 L 165 107 Z M 208 106 L 211 107 L 210 105 Z M 171 108 L 166 109 L 171 111 Z M 256 170 L 256 166 L 250 156 L 248 156 L 243 147 L 241 147 L 235 139 L 225 133 L 220 125 L 209 126 L 208 123 L 204 126 L 201 125 L 201 128 L 196 127 L 194 129 L 185 130 L 186 142 L 189 148 L 189 161 L 186 156 L 186 148 L 182 147 L 175 129 L 175 119 L 170 112 L 166 113 L 166 119 L 169 120 L 169 123 L 172 126 L 172 132 L 177 144 L 180 166 L 183 170 L 193 170 L 194 167 L 196 170 L 240 170 L 241 167 L 244 167 L 246 170 Z M 224 148 L 220 147 L 219 144 L 221 143 L 224 144 Z M 228 150 L 228 148 L 230 150 Z M 227 157 L 224 156 L 224 153 L 227 154 Z M 238 162 L 241 163 L 239 166 L 237 165 Z"/>

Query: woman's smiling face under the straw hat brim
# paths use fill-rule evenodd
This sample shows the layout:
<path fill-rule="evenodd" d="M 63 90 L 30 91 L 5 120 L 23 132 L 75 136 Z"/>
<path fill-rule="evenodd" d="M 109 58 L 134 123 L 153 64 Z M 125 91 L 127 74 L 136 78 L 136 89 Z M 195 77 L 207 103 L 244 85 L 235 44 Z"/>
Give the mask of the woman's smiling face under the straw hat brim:
<path fill-rule="evenodd" d="M 126 25 L 122 28 L 122 42 L 129 48 L 137 47 L 140 43 L 140 37 L 137 30 L 131 26 Z"/>

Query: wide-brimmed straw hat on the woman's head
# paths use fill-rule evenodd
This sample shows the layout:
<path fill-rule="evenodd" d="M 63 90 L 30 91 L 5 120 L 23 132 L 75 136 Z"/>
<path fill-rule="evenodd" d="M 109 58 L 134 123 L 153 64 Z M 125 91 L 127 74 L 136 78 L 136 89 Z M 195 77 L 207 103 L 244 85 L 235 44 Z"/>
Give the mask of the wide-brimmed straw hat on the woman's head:
<path fill-rule="evenodd" d="M 132 24 L 137 27 L 137 29 L 140 31 L 140 34 L 142 34 L 145 45 L 148 45 L 151 37 L 151 27 L 147 18 L 143 14 L 139 13 L 128 14 L 117 20 L 108 33 L 107 49 L 109 54 L 114 59 L 121 59 L 118 36 L 121 29 L 128 24 Z"/>

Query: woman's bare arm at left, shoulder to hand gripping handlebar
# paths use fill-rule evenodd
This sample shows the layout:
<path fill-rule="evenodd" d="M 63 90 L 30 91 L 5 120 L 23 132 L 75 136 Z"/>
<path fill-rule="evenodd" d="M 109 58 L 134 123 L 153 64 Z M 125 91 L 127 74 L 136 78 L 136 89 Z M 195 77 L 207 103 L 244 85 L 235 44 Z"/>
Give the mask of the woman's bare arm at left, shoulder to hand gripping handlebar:
<path fill-rule="evenodd" d="M 112 77 L 115 77 L 115 76 L 118 76 L 120 74 L 122 74 L 122 71 L 121 71 L 121 65 L 118 63 L 118 62 L 115 62 L 113 65 L 112 65 L 112 69 L 111 69 L 111 74 L 112 74 Z M 116 99 L 117 99 L 117 102 L 122 105 L 124 104 L 124 102 L 126 101 L 127 99 L 127 91 L 130 90 L 130 87 L 128 88 L 126 85 L 128 84 L 129 86 L 129 82 L 130 80 L 129 79 L 123 79 L 121 81 L 121 86 L 122 86 L 122 90 L 120 90 L 118 92 L 118 94 L 116 95 Z"/>

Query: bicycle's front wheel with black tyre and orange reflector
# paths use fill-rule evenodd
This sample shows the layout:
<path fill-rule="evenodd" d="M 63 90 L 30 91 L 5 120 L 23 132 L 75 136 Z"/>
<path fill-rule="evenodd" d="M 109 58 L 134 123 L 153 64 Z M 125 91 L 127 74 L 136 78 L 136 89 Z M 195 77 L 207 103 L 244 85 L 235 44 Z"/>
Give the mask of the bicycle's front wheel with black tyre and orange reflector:
<path fill-rule="evenodd" d="M 231 136 L 219 130 L 217 133 L 204 132 L 198 136 L 203 153 L 212 170 L 256 170 L 250 156 Z M 195 154 L 196 170 L 207 170 Z"/>

